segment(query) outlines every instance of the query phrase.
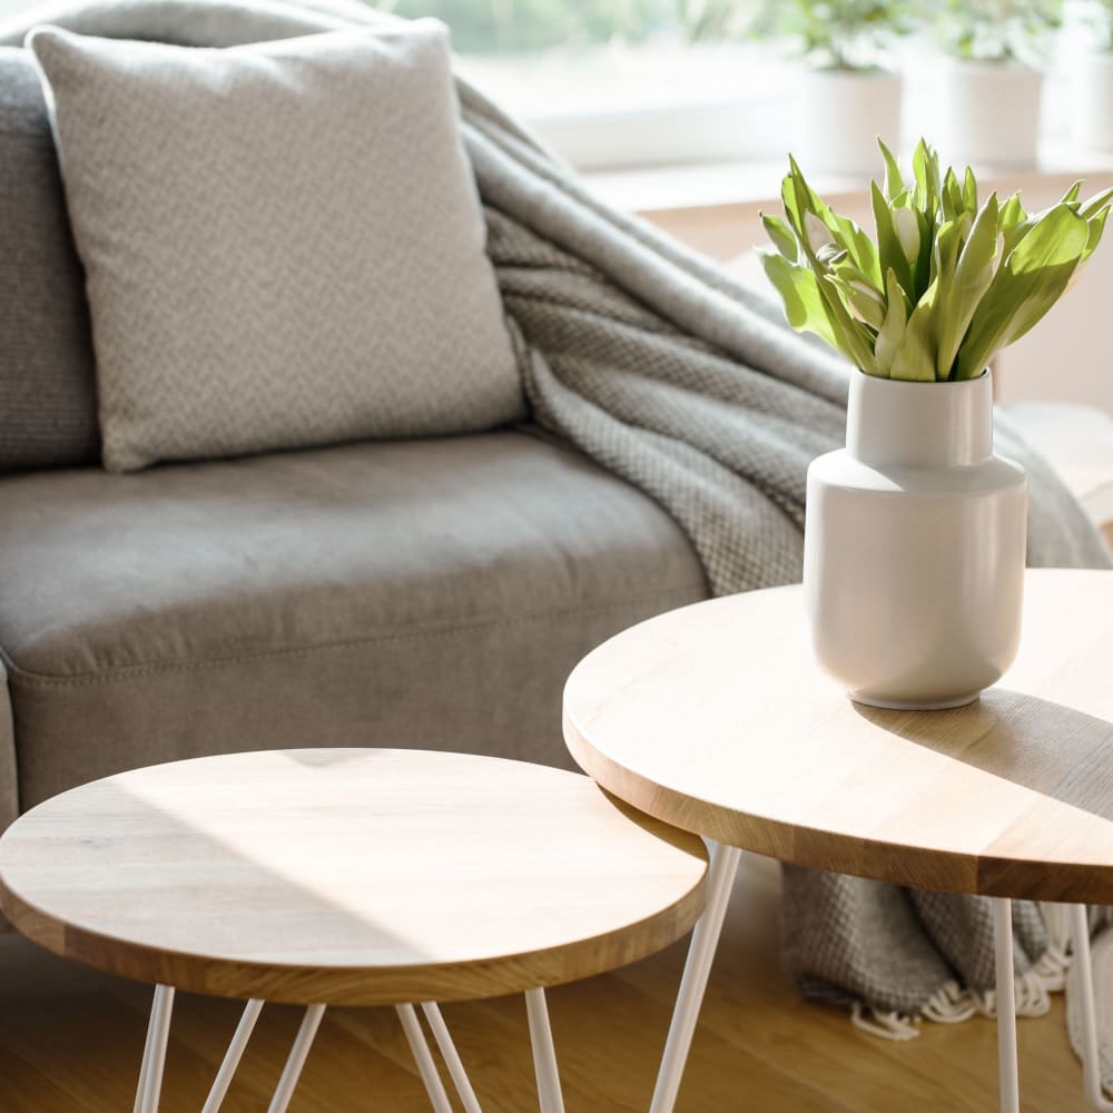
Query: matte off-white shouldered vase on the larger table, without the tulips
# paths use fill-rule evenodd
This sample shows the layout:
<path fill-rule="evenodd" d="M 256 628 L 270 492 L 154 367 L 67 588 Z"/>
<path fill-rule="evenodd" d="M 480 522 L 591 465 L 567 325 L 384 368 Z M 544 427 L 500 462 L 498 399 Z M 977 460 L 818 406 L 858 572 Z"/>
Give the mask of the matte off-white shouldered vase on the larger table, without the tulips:
<path fill-rule="evenodd" d="M 989 373 L 855 372 L 846 449 L 808 469 L 804 597 L 820 664 L 875 707 L 957 707 L 1012 663 L 1027 480 L 993 454 Z"/>

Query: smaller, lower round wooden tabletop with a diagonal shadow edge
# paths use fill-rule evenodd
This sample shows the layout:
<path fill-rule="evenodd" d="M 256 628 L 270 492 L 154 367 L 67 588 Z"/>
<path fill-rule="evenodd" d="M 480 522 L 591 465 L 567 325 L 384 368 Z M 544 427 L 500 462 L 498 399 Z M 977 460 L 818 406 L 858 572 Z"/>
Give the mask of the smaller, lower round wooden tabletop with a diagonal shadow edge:
<path fill-rule="evenodd" d="M 642 958 L 703 902 L 700 839 L 579 774 L 414 750 L 235 754 L 63 792 L 0 839 L 56 954 L 298 1004 L 494 996 Z"/>

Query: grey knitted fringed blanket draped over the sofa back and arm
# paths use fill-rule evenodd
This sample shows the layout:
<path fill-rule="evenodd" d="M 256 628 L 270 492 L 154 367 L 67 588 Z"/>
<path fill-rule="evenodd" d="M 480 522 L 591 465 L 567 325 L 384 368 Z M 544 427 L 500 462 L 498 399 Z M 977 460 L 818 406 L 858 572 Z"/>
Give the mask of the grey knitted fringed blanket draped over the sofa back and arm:
<path fill-rule="evenodd" d="M 75 0 L 0 24 L 0 42 L 55 22 L 221 47 L 388 18 L 354 0 Z M 457 88 L 533 421 L 664 506 L 716 594 L 798 581 L 805 472 L 843 442 L 846 366 L 788 329 L 766 294 L 600 204 L 502 111 Z M 1044 461 L 1004 421 L 997 436 L 1031 477 L 1031 562 L 1109 564 Z M 1058 972 L 1038 909 L 1018 904 L 1015 919 L 1021 1001 L 1038 1011 Z M 805 993 L 865 1005 L 890 1034 L 902 1024 L 886 1014 L 954 1016 L 993 985 L 989 910 L 977 898 L 786 869 L 784 942 Z"/>

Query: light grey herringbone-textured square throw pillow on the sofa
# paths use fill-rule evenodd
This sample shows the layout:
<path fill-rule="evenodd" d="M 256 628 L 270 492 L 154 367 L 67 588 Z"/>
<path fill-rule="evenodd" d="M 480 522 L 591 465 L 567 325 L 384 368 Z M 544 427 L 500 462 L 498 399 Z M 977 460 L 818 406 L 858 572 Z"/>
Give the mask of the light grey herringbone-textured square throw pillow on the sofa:
<path fill-rule="evenodd" d="M 442 24 L 28 46 L 88 275 L 106 467 L 521 416 Z"/>

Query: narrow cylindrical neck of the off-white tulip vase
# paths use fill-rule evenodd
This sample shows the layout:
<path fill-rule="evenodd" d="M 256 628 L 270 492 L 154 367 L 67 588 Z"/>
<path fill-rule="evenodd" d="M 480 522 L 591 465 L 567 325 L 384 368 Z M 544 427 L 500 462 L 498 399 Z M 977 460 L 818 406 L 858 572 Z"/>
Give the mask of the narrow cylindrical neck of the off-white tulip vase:
<path fill-rule="evenodd" d="M 989 372 L 958 383 L 851 373 L 846 449 L 875 467 L 959 467 L 993 455 Z"/>

